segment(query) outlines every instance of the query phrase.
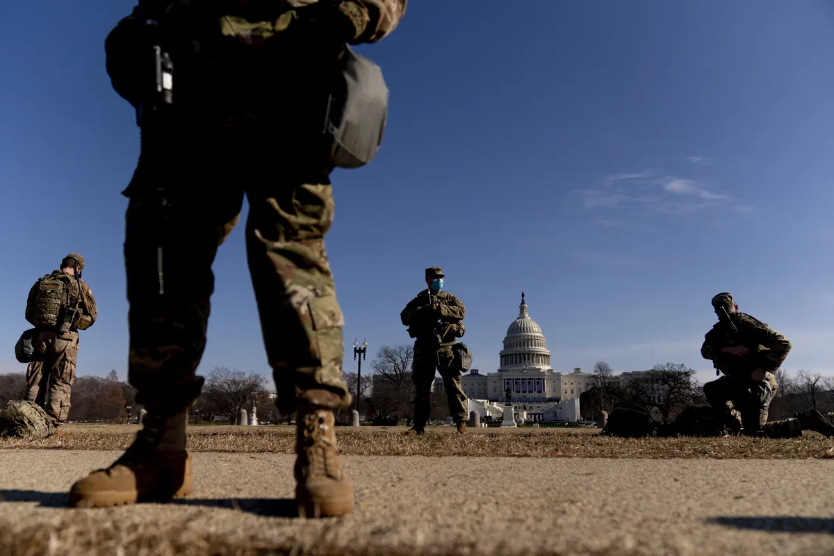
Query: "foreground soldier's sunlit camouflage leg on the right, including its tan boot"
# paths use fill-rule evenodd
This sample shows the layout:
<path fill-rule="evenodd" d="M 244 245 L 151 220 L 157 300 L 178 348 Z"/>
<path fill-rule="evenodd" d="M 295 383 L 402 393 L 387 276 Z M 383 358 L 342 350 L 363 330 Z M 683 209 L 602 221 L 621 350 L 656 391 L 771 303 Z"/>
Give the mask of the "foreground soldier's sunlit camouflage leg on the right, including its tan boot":
<path fill-rule="evenodd" d="M 333 222 L 326 173 L 284 173 L 247 189 L 246 244 L 276 403 L 298 411 L 294 476 L 299 513 L 353 509 L 353 483 L 336 447 L 334 409 L 349 408 L 342 360 L 344 318 L 324 235 Z"/>

